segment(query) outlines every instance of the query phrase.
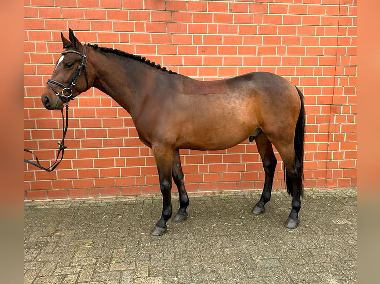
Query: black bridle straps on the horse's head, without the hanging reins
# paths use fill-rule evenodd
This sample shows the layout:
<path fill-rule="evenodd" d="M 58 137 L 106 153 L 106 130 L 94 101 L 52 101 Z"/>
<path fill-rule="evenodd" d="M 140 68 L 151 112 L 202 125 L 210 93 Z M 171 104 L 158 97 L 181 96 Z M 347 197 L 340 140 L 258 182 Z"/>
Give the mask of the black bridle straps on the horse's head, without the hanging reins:
<path fill-rule="evenodd" d="M 79 51 L 75 51 L 75 50 L 67 50 L 67 51 L 61 52 L 62 55 L 67 54 L 67 53 L 75 53 L 75 54 L 82 56 L 82 61 L 80 61 L 80 64 L 76 68 L 76 71 L 75 71 L 74 76 L 72 77 L 70 86 L 66 86 L 66 85 L 62 84 L 61 82 L 58 82 L 58 81 L 53 80 L 53 79 L 49 79 L 47 82 L 47 84 L 50 86 L 50 88 L 52 88 L 53 92 L 56 95 L 58 95 L 64 103 L 67 103 L 70 100 L 74 99 L 74 98 L 71 98 L 72 97 L 72 88 L 74 88 L 76 81 L 78 81 L 80 74 L 82 74 L 82 69 L 84 69 L 84 72 L 86 73 L 86 90 L 88 89 L 88 74 L 87 74 L 87 64 L 86 64 L 86 46 L 83 45 L 83 54 L 80 53 Z M 62 94 L 60 94 L 56 90 L 56 88 L 54 88 L 53 84 L 63 88 Z M 63 94 L 63 92 L 66 90 L 68 91 L 69 95 Z"/>

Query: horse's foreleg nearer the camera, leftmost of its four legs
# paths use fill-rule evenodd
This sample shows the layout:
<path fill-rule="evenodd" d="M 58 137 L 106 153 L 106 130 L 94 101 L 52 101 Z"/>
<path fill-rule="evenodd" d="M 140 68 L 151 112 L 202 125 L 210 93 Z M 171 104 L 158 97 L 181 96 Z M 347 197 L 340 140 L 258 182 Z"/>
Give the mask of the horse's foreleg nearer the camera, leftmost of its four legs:
<path fill-rule="evenodd" d="M 165 147 L 152 147 L 156 160 L 158 177 L 160 179 L 160 190 L 162 193 L 162 214 L 150 232 L 153 236 L 160 236 L 166 233 L 166 222 L 172 217 L 172 200 L 170 191 L 172 189 L 172 159 L 173 150 Z"/>

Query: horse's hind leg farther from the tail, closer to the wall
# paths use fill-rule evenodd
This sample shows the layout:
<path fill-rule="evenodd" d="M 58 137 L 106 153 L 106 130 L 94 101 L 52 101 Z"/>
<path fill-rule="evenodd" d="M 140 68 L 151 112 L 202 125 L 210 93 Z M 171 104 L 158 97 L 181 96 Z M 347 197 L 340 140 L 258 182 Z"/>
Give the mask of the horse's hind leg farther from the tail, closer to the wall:
<path fill-rule="evenodd" d="M 276 170 L 277 159 L 274 156 L 272 143 L 267 136 L 261 132 L 256 138 L 257 150 L 261 156 L 265 172 L 264 189 L 262 190 L 260 201 L 253 207 L 252 213 L 260 215 L 265 211 L 265 204 L 270 200 L 272 193 L 273 177 Z"/>

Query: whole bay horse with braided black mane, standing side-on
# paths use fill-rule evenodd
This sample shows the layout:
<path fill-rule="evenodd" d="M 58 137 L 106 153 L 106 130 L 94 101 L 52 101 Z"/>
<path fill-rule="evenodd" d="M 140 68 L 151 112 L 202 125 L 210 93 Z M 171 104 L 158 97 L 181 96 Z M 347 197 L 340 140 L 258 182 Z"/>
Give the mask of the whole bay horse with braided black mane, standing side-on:
<path fill-rule="evenodd" d="M 46 109 L 62 110 L 70 99 L 95 87 L 130 114 L 139 139 L 152 149 L 157 164 L 163 208 L 153 236 L 166 233 L 172 216 L 172 178 L 180 201 L 174 221 L 188 217 L 179 149 L 222 150 L 247 138 L 255 140 L 265 171 L 262 195 L 252 213 L 262 214 L 270 200 L 277 164 L 273 144 L 283 160 L 287 192 L 292 196 L 285 226 L 298 226 L 305 109 L 301 91 L 291 82 L 268 72 L 199 81 L 145 57 L 82 45 L 71 29 L 69 39 L 63 33 L 61 39 L 64 51 L 43 91 L 42 103 Z"/>

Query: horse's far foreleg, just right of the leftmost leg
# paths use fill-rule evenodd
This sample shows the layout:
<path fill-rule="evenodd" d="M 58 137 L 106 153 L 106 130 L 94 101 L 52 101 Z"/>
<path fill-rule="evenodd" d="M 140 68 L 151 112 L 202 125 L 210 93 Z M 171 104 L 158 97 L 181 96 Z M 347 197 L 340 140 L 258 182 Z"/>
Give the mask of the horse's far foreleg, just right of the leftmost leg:
<path fill-rule="evenodd" d="M 172 176 L 174 183 L 177 186 L 178 194 L 180 197 L 180 209 L 178 209 L 177 215 L 174 217 L 173 221 L 182 222 L 185 221 L 188 217 L 188 213 L 186 213 L 186 208 L 189 205 L 189 198 L 184 185 L 184 174 L 181 168 L 179 150 L 175 150 L 173 152 Z"/>

